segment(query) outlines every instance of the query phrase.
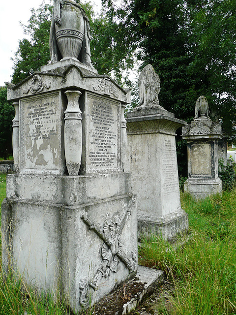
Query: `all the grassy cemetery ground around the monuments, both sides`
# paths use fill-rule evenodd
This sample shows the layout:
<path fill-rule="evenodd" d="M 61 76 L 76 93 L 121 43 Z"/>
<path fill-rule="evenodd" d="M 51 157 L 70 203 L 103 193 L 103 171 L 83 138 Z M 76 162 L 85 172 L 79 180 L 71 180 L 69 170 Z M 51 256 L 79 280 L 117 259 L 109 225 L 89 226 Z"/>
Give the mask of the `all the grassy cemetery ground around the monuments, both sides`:
<path fill-rule="evenodd" d="M 0 174 L 0 204 L 5 179 Z M 163 270 L 166 281 L 132 315 L 236 315 L 236 189 L 201 201 L 181 193 L 181 205 L 192 237 L 177 248 L 154 235 L 143 240 L 139 263 Z M 0 269 L 1 315 L 66 315 L 66 299 L 44 298 L 13 271 L 3 279 Z"/>

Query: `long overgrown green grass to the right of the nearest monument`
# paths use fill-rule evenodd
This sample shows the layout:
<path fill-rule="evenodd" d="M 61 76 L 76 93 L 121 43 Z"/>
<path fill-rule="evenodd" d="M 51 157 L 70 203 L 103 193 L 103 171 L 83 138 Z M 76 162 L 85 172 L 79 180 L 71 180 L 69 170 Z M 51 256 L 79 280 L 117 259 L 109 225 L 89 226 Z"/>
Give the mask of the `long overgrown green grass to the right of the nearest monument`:
<path fill-rule="evenodd" d="M 175 287 L 173 315 L 236 315 L 236 190 L 201 201 L 181 194 L 192 238 L 183 247 L 152 236 L 142 262 Z"/>

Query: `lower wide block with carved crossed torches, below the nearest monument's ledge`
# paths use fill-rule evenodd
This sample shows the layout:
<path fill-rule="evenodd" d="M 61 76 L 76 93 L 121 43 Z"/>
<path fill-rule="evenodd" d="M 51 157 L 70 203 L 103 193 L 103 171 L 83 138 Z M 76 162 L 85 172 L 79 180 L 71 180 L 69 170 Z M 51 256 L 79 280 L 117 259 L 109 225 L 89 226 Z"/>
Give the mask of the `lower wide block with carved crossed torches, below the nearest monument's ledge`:
<path fill-rule="evenodd" d="M 107 241 L 97 235 L 96 228 Z M 77 206 L 8 198 L 2 203 L 2 236 L 4 270 L 10 254 L 13 268 L 29 283 L 54 292 L 60 284 L 63 292 L 70 292 L 69 305 L 77 311 L 137 270 L 132 194 Z"/>

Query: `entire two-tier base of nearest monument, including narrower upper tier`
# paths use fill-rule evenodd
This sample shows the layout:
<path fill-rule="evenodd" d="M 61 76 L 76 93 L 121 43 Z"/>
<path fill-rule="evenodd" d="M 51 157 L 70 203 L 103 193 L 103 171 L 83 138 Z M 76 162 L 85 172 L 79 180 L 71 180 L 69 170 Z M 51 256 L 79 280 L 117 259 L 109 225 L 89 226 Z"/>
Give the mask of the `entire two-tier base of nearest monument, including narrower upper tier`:
<path fill-rule="evenodd" d="M 3 270 L 13 268 L 40 291 L 67 294 L 75 312 L 134 276 L 137 213 L 130 175 L 7 176 Z"/>

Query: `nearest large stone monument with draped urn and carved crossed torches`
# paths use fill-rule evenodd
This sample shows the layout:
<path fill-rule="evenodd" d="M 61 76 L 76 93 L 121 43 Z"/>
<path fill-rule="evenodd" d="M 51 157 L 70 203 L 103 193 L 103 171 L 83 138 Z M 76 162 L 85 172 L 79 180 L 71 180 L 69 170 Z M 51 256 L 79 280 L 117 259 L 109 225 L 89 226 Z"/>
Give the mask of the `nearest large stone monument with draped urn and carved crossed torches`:
<path fill-rule="evenodd" d="M 137 213 L 124 172 L 130 95 L 91 65 L 89 20 L 56 0 L 51 63 L 17 85 L 13 154 L 2 203 L 2 268 L 68 295 L 75 312 L 137 270 Z"/>

